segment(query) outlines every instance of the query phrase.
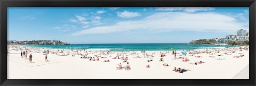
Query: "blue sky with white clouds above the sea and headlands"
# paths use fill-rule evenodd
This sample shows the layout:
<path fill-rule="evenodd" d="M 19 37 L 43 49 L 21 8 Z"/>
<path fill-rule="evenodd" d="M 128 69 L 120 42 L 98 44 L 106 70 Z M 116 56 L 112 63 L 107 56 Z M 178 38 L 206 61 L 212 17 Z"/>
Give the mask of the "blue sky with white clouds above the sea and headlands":
<path fill-rule="evenodd" d="M 249 32 L 249 7 L 8 7 L 9 40 L 187 43 Z"/>

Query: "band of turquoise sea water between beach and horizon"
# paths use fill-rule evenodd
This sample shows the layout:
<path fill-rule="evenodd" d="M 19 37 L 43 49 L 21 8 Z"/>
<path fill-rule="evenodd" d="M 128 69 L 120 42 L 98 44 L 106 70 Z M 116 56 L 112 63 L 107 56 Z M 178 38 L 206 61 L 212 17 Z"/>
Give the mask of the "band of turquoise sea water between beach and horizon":
<path fill-rule="evenodd" d="M 204 48 L 225 48 L 234 46 L 215 46 L 215 45 L 192 45 L 192 44 L 71 44 L 71 45 L 25 45 L 27 47 L 37 47 L 46 49 L 65 49 L 65 50 L 112 50 L 112 51 L 165 51 L 165 50 L 196 50 Z"/>

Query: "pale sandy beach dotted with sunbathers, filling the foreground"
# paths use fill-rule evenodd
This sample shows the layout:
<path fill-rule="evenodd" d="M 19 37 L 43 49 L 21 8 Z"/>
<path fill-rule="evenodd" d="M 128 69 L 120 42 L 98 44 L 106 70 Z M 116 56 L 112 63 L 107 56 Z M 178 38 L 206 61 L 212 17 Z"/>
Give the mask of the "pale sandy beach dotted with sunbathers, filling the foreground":
<path fill-rule="evenodd" d="M 109 54 L 106 54 L 107 51 L 105 51 L 106 55 L 103 55 L 102 51 L 87 51 L 86 53 L 84 50 L 78 50 L 78 54 L 82 54 L 78 55 L 77 52 L 74 52 L 76 50 L 64 50 L 63 53 L 60 53 L 61 50 L 50 49 L 50 53 L 47 55 L 49 62 L 45 62 L 43 51 L 46 49 L 27 48 L 28 57 L 30 54 L 33 55 L 33 63 L 29 63 L 29 59 L 21 57 L 21 51 L 26 50 L 17 50 L 15 47 L 10 47 L 7 56 L 7 79 L 233 79 L 235 75 L 249 65 L 249 50 L 244 49 L 248 47 L 242 47 L 243 49 L 231 47 L 190 50 L 186 51 L 186 56 L 182 55 L 181 50 L 177 51 L 177 59 L 174 59 L 171 50 L 146 51 L 145 54 L 154 57 L 147 57 L 147 55 L 144 57 L 144 53 L 141 53 L 141 51 L 123 51 L 123 53 L 121 51 L 111 51 Z M 20 48 L 25 49 L 25 47 Z M 69 55 L 67 55 L 68 52 Z M 189 54 L 189 52 L 199 53 Z M 60 56 L 64 54 L 67 56 Z M 85 57 L 95 57 L 95 59 L 95 55 L 97 55 L 99 61 L 89 61 L 89 58 L 81 58 L 85 54 L 87 54 Z M 117 54 L 121 54 L 119 56 L 121 59 L 113 59 Z M 161 57 L 161 54 L 164 57 Z M 244 56 L 234 57 L 238 55 Z M 136 58 L 137 56 L 139 58 Z M 130 70 L 117 68 L 119 63 L 122 63 L 122 66 L 127 64 L 127 62 L 123 63 L 122 57 L 128 57 L 127 62 L 130 64 Z M 178 59 L 178 57 L 187 57 L 189 61 L 183 62 L 182 58 Z M 164 62 L 159 61 L 160 58 L 163 58 Z M 103 62 L 108 59 L 110 62 Z M 152 61 L 147 62 L 148 60 Z M 190 64 L 200 61 L 205 63 Z M 169 66 L 163 66 L 164 63 Z M 150 65 L 150 68 L 147 68 L 146 65 Z M 186 68 L 191 71 L 179 73 L 173 71 L 174 67 Z"/>

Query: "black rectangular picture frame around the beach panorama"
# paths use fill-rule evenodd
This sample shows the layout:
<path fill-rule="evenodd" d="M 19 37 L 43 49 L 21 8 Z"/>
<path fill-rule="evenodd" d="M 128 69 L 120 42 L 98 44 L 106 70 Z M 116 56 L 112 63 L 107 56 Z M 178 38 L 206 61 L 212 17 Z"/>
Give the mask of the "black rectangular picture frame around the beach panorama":
<path fill-rule="evenodd" d="M 255 0 L 1 0 L 1 85 L 255 85 Z M 8 80 L 7 7 L 250 7 L 250 79 L 248 80 Z M 129 82 L 129 83 L 127 83 Z"/>

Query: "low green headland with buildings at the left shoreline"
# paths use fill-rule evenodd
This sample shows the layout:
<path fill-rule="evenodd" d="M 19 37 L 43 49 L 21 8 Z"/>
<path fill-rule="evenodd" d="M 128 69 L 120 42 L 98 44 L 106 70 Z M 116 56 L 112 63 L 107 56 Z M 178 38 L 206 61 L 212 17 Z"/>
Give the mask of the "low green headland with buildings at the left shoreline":
<path fill-rule="evenodd" d="M 7 41 L 7 44 L 15 45 L 69 45 L 67 42 L 62 42 L 60 40 L 31 40 L 31 41 Z"/>

